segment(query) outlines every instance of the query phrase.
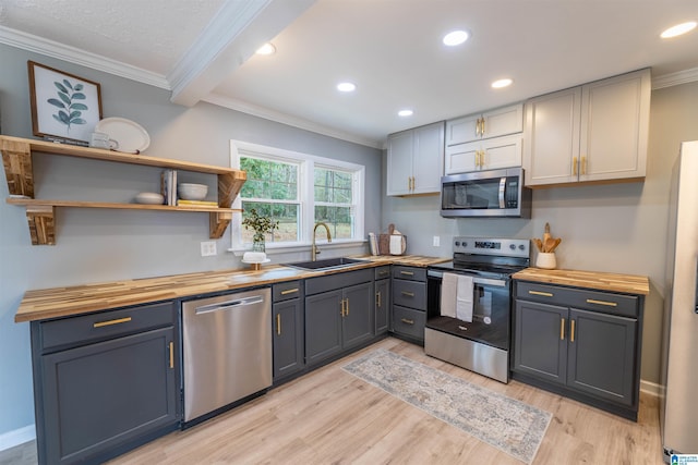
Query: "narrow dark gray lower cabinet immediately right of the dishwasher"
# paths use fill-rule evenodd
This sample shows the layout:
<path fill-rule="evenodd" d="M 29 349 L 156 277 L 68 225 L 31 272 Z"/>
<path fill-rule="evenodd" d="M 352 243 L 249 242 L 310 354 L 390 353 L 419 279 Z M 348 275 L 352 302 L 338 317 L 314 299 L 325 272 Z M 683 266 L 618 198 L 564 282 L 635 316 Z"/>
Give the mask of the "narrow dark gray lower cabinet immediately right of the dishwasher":
<path fill-rule="evenodd" d="M 303 286 L 290 281 L 272 286 L 274 382 L 305 367 Z"/>

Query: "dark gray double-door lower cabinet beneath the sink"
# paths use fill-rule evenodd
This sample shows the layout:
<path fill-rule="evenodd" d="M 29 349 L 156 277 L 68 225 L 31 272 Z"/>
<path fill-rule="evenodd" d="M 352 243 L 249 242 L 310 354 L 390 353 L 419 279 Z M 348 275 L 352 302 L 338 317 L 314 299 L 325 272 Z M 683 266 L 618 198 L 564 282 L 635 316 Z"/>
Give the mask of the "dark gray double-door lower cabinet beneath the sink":
<path fill-rule="evenodd" d="M 305 280 L 305 363 L 320 364 L 374 335 L 373 270 Z"/>

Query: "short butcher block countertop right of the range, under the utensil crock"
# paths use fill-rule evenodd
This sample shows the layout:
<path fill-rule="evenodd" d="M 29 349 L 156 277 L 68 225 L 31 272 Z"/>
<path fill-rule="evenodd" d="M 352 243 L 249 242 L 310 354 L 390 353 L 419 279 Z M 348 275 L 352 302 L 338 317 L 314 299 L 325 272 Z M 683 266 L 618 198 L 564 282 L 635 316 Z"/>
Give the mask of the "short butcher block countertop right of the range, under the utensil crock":
<path fill-rule="evenodd" d="M 512 276 L 516 280 L 533 281 L 549 284 L 571 285 L 575 287 L 601 291 L 623 292 L 626 294 L 648 295 L 650 281 L 647 277 L 636 274 L 616 274 L 599 271 L 578 270 L 543 270 L 527 268 Z"/>

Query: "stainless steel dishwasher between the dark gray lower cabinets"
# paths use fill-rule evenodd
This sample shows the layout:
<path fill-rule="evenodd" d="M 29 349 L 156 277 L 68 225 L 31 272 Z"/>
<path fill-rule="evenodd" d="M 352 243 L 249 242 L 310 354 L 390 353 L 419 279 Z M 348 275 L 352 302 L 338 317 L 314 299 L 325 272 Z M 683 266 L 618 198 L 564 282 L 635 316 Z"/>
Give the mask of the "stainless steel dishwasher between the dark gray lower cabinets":
<path fill-rule="evenodd" d="M 182 303 L 184 423 L 272 386 L 268 287 Z"/>

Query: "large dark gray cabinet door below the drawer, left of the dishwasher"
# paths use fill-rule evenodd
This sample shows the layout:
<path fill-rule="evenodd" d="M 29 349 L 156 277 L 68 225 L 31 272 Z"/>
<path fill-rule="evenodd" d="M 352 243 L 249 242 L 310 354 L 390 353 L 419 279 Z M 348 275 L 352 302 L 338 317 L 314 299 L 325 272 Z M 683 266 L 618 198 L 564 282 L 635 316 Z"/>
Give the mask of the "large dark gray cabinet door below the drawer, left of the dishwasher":
<path fill-rule="evenodd" d="M 177 425 L 173 338 L 170 327 L 43 356 L 43 462 L 75 463 Z"/>

